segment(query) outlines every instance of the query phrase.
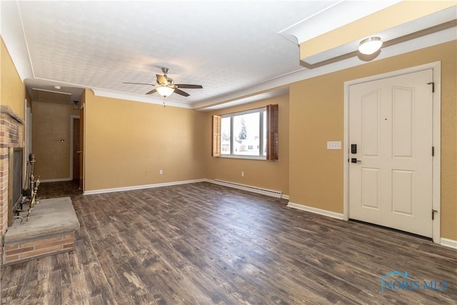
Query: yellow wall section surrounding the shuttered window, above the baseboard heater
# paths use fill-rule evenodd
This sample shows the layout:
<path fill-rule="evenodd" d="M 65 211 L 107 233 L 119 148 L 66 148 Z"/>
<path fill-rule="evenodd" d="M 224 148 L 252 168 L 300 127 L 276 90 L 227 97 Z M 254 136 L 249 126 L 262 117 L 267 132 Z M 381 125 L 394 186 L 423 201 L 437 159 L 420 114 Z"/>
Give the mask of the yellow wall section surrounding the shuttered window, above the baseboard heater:
<path fill-rule="evenodd" d="M 268 104 L 278 104 L 278 161 L 227 159 L 211 156 L 211 116 L 256 109 Z M 205 151 L 206 178 L 263 187 L 288 194 L 288 95 L 278 96 L 251 104 L 221 109 L 206 113 L 205 118 Z M 244 171 L 244 176 L 241 176 Z"/>

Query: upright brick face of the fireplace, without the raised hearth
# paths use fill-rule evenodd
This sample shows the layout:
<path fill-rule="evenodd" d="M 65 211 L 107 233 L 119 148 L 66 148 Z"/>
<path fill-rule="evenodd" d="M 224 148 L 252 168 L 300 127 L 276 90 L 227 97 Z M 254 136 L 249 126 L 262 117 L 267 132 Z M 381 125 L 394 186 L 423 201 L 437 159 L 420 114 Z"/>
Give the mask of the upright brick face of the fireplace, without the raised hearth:
<path fill-rule="evenodd" d="M 24 148 L 24 120 L 10 106 L 0 106 L 0 253 L 9 214 L 9 149 Z M 3 262 L 2 262 L 3 263 Z"/>

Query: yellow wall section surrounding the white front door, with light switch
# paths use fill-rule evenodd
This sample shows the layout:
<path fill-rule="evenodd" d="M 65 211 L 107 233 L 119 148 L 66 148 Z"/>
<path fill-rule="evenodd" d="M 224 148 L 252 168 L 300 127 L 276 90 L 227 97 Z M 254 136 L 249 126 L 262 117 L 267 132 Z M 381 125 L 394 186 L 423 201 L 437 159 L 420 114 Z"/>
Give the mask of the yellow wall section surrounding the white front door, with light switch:
<path fill-rule="evenodd" d="M 344 81 L 441 61 L 441 236 L 457 240 L 456 41 L 299 81 L 290 86 L 289 195 L 293 203 L 343 213 Z"/>

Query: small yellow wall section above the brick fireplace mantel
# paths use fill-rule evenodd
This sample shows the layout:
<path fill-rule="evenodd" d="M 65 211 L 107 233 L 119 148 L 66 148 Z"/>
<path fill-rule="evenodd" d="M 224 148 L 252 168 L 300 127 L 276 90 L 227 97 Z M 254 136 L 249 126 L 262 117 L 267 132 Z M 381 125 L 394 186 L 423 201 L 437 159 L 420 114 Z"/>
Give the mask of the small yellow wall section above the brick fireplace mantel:
<path fill-rule="evenodd" d="M 25 120 L 25 86 L 16 71 L 3 39 L 0 40 L 0 104 L 10 106 L 17 116 Z"/>

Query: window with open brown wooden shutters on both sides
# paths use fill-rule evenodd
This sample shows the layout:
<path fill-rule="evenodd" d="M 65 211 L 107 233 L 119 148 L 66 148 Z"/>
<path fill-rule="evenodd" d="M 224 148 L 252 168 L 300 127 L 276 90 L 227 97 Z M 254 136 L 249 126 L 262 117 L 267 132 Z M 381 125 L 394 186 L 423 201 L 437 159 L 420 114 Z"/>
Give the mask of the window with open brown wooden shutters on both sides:
<path fill-rule="evenodd" d="M 213 116 L 213 156 L 278 159 L 278 105 Z"/>

